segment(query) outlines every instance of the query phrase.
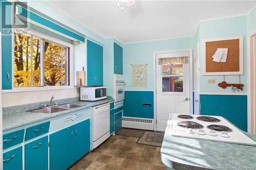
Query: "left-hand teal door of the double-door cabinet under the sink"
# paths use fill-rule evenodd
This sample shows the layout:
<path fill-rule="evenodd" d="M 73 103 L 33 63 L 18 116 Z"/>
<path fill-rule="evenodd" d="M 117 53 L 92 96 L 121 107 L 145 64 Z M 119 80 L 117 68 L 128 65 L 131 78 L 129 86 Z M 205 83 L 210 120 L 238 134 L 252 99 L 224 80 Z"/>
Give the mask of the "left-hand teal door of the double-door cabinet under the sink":
<path fill-rule="evenodd" d="M 74 133 L 71 127 L 50 135 L 50 169 L 67 169 L 72 165 L 70 154 Z"/>

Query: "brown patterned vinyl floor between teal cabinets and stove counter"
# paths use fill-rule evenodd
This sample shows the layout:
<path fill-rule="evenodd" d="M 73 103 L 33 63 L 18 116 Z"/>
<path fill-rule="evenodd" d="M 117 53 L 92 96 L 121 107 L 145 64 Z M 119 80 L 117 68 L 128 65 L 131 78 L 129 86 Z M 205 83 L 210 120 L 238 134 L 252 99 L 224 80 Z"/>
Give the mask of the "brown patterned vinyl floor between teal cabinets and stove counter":
<path fill-rule="evenodd" d="M 139 138 L 112 135 L 95 151 L 75 163 L 70 170 L 81 169 L 156 169 L 165 170 L 160 147 L 136 143 Z"/>

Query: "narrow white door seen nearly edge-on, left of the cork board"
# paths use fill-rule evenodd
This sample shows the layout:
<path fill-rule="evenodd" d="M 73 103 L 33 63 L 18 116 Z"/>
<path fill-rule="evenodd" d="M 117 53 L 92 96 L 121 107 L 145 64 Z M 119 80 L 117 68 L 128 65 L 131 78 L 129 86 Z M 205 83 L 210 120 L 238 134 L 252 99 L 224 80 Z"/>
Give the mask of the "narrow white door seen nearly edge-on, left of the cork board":
<path fill-rule="evenodd" d="M 197 44 L 195 48 L 195 58 L 194 58 L 194 73 L 195 73 L 195 80 L 194 80 L 194 112 L 195 114 L 200 113 L 200 98 L 199 98 L 199 89 L 200 89 L 200 66 L 199 66 L 199 44 Z"/>

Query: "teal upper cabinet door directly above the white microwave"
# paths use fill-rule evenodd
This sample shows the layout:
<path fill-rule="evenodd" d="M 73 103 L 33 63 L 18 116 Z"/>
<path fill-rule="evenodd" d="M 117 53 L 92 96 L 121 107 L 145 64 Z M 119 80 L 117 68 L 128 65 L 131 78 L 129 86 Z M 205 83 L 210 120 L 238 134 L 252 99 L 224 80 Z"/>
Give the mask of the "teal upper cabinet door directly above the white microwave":
<path fill-rule="evenodd" d="M 103 86 L 103 47 L 87 40 L 87 85 Z"/>

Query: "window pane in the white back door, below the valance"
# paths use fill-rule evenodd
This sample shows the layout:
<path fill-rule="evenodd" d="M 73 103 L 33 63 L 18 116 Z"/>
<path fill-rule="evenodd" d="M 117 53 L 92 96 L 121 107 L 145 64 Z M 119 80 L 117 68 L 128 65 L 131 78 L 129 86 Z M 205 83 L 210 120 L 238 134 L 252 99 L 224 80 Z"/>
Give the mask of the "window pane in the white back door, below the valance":
<path fill-rule="evenodd" d="M 162 65 L 162 92 L 183 92 L 183 64 Z"/>

